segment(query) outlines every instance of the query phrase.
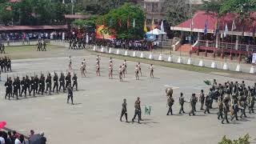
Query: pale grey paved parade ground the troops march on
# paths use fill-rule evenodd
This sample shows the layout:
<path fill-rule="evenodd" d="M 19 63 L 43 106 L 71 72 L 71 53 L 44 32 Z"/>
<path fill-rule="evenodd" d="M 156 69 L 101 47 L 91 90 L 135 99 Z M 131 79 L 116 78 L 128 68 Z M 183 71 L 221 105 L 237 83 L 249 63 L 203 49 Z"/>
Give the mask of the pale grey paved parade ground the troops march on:
<path fill-rule="evenodd" d="M 250 134 L 251 142 L 256 137 L 256 115 L 247 114 L 248 118 L 239 118 L 238 122 L 222 124 L 217 118 L 217 109 L 210 110 L 211 114 L 203 114 L 197 103 L 196 116 L 189 116 L 190 104 L 185 103 L 186 114 L 178 114 L 178 97 L 182 92 L 187 102 L 192 93 L 199 94 L 200 90 L 208 92 L 209 86 L 204 80 L 217 82 L 242 82 L 242 79 L 224 77 L 216 74 L 198 73 L 188 70 L 178 70 L 165 66 L 154 66 L 154 78 L 150 78 L 149 64 L 142 63 L 142 77 L 136 80 L 134 68 L 137 62 L 127 62 L 126 78 L 118 80 L 118 67 L 122 59 L 114 58 L 114 79 L 108 78 L 109 59 L 101 57 L 101 76 L 96 77 L 96 55 L 87 50 L 66 50 L 57 47 L 50 52 L 37 52 L 28 58 L 17 58 L 12 61 L 12 73 L 2 73 L 0 82 L 0 120 L 7 122 L 7 128 L 17 130 L 22 134 L 43 131 L 47 142 L 51 144 L 216 144 L 224 135 L 228 138 L 239 138 Z M 40 53 L 40 54 L 39 54 Z M 47 58 L 42 58 L 43 54 Z M 8 55 L 8 54 L 7 54 Z M 68 56 L 72 57 L 70 70 L 78 74 L 78 91 L 74 91 L 74 105 L 66 103 L 67 94 L 44 94 L 36 97 L 22 97 L 20 100 L 5 100 L 7 74 L 9 77 L 22 78 L 54 71 L 66 75 Z M 82 78 L 79 67 L 83 58 L 86 59 L 86 78 Z M 253 76 L 252 76 L 253 77 Z M 239 77 L 240 78 L 240 77 Z M 246 85 L 254 82 L 245 80 Z M 174 115 L 166 116 L 167 87 L 174 89 Z M 134 116 L 134 102 L 141 98 L 141 124 Z M 122 99 L 127 99 L 128 121 L 120 122 Z M 145 115 L 145 106 L 151 106 L 151 114 Z M 217 103 L 214 102 L 214 108 Z M 239 113 L 240 114 L 240 113 Z M 229 115 L 230 118 L 230 115 Z M 125 118 L 123 118 L 125 121 Z"/>

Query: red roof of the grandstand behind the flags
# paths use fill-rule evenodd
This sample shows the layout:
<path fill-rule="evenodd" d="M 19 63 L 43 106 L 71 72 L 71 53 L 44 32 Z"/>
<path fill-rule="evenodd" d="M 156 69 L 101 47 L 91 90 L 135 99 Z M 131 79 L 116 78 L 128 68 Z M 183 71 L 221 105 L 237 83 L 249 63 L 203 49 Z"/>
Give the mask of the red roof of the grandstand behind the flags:
<path fill-rule="evenodd" d="M 256 22 L 254 19 L 256 18 L 256 13 L 251 15 L 250 21 L 239 22 L 238 14 L 226 14 L 222 18 L 219 18 L 219 28 L 220 30 L 224 30 L 224 26 L 227 24 L 228 30 L 231 31 L 232 23 L 234 20 L 236 29 L 234 31 L 242 32 L 242 26 L 244 26 L 244 32 L 252 32 L 254 27 L 256 27 Z M 205 29 L 206 20 L 208 19 L 208 30 L 215 30 L 215 25 L 218 20 L 217 14 L 207 14 L 205 11 L 198 11 L 194 14 L 194 28 L 195 29 Z M 176 27 L 190 28 L 192 22 L 192 18 L 187 20 L 186 22 L 182 22 Z"/>

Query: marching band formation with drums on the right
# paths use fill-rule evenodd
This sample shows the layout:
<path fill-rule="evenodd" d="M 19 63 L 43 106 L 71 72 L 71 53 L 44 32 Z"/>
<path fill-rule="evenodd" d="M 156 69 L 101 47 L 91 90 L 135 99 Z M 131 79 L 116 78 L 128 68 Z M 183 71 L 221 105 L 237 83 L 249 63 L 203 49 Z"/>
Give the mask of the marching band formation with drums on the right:
<path fill-rule="evenodd" d="M 171 88 L 166 89 L 167 106 L 169 107 L 166 115 L 173 114 L 172 106 L 174 105 L 174 98 L 172 97 L 172 93 Z M 217 84 L 214 79 L 208 94 L 204 94 L 204 90 L 201 90 L 200 94 L 191 95 L 190 101 L 187 102 L 190 103 L 191 108 L 189 115 L 196 115 L 197 102 L 200 103 L 200 110 L 204 114 L 210 114 L 210 110 L 213 109 L 213 102 L 218 102 L 217 118 L 221 120 L 222 124 L 224 122 L 229 123 L 229 115 L 231 121 L 234 118 L 238 121 L 238 113 L 240 113 L 240 118 L 246 118 L 246 112 L 249 112 L 249 114 L 254 113 L 255 94 L 256 82 L 254 86 L 246 87 L 244 81 L 242 83 L 225 82 L 224 84 Z M 180 105 L 179 114 L 184 114 L 183 105 L 186 101 L 182 93 L 178 100 Z"/>

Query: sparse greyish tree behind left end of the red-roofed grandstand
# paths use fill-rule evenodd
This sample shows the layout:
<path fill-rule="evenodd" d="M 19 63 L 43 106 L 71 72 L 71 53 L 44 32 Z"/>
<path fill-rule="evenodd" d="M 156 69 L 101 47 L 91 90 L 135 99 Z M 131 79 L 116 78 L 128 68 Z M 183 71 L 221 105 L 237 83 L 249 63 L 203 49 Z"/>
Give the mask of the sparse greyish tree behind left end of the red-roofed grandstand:
<path fill-rule="evenodd" d="M 186 0 L 166 0 L 162 11 L 166 14 L 166 20 L 175 26 L 190 18 L 190 5 Z"/>

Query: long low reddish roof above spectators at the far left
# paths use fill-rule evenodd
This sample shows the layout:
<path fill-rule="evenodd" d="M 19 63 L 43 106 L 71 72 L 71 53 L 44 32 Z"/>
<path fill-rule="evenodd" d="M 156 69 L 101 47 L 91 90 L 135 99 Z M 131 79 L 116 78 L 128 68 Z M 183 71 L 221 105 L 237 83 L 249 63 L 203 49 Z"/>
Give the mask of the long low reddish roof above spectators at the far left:
<path fill-rule="evenodd" d="M 56 26 L 0 26 L 0 30 L 60 30 L 67 29 L 67 25 Z"/>

